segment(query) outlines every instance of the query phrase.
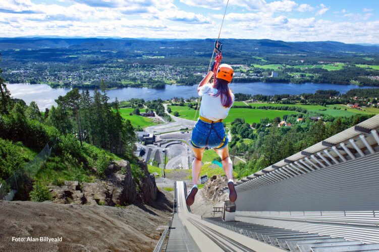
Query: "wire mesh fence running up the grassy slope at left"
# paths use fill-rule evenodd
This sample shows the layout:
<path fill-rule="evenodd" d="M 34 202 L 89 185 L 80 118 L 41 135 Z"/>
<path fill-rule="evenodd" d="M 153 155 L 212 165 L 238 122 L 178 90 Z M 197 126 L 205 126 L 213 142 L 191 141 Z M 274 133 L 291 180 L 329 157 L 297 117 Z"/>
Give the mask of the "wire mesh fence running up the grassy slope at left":
<path fill-rule="evenodd" d="M 24 164 L 21 169 L 15 171 L 12 176 L 0 184 L 0 200 L 12 201 L 20 186 L 25 181 L 25 175 L 33 177 L 42 167 L 46 159 L 51 155 L 51 149 L 47 143 L 38 155 L 28 163 Z"/>

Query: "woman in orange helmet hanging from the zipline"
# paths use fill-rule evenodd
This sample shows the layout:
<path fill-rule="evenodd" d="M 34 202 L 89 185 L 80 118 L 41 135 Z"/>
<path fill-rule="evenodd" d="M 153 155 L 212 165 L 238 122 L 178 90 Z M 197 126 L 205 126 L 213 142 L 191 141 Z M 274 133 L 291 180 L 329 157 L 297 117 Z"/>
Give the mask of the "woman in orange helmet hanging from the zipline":
<path fill-rule="evenodd" d="M 234 102 L 234 95 L 228 87 L 233 78 L 233 69 L 227 64 L 222 64 L 217 68 L 216 61 L 212 63 L 210 69 L 197 87 L 202 102 L 199 119 L 191 136 L 191 146 L 195 158 L 192 162 L 192 188 L 186 198 L 188 206 L 193 204 L 198 191 L 197 181 L 201 172 L 201 159 L 205 147 L 213 148 L 220 156 L 228 178 L 229 200 L 235 202 L 237 199 L 233 182 L 233 163 L 229 158 L 229 140 L 222 122 L 228 116 Z M 213 75 L 215 75 L 213 83 L 208 83 Z"/>

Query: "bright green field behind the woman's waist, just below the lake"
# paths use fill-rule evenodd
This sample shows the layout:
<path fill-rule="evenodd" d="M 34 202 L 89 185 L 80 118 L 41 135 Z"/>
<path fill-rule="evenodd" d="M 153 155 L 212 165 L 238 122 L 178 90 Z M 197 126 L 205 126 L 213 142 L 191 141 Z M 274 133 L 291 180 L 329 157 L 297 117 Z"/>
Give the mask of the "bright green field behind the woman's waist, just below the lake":
<path fill-rule="evenodd" d="M 243 103 L 244 104 L 244 103 Z M 245 104 L 244 104 L 245 105 Z M 187 106 L 170 106 L 171 114 L 174 112 L 179 112 L 179 117 L 193 120 L 195 116 L 195 111 L 193 108 L 189 109 Z M 245 118 L 245 121 L 248 123 L 259 122 L 261 118 L 274 119 L 275 117 L 283 117 L 285 114 L 298 114 L 295 111 L 286 111 L 286 110 L 263 110 L 263 109 L 249 109 L 249 108 L 231 108 L 229 111 L 228 117 L 224 122 L 230 124 L 234 121 L 234 118 Z"/>

